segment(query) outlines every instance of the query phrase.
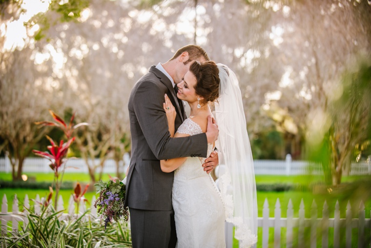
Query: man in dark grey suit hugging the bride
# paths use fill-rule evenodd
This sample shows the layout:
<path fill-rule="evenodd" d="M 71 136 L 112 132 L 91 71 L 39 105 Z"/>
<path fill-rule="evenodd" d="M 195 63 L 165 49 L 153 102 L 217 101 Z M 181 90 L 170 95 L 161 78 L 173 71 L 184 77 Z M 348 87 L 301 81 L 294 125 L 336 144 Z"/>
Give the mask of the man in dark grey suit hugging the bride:
<path fill-rule="evenodd" d="M 180 83 L 193 61 L 209 58 L 204 49 L 187 45 L 164 64 L 152 66 L 133 87 L 128 103 L 131 132 L 131 161 L 127 174 L 125 207 L 130 210 L 133 248 L 175 247 L 176 232 L 171 190 L 174 173 L 161 171 L 160 160 L 179 157 L 206 157 L 207 143 L 218 137 L 215 120 L 208 117 L 206 133 L 170 138 L 163 108 L 165 94 L 177 111 L 175 131 L 186 119 L 184 105 L 176 97 Z M 206 159 L 209 173 L 218 165 L 213 152 Z M 202 189 L 200 189 L 202 190 Z"/>

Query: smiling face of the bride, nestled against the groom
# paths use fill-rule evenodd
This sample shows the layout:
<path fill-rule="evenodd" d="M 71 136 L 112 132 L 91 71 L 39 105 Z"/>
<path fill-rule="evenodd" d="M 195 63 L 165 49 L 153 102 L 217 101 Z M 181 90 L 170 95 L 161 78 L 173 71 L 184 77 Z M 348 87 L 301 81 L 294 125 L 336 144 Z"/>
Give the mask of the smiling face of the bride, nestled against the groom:
<path fill-rule="evenodd" d="M 196 85 L 197 80 L 192 72 L 187 71 L 184 75 L 182 82 L 178 83 L 178 94 L 177 97 L 180 100 L 186 101 L 188 103 L 193 103 L 197 101 L 196 91 L 194 86 Z"/>

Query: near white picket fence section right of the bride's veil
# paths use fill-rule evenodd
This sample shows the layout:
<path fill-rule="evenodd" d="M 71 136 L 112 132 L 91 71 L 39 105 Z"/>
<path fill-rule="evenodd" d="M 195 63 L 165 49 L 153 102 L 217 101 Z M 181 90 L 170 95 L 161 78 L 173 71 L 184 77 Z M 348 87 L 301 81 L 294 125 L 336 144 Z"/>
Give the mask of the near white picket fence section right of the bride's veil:
<path fill-rule="evenodd" d="M 305 207 L 303 199 L 299 207 L 299 216 L 293 216 L 293 206 L 291 199 L 289 200 L 287 208 L 287 217 L 281 218 L 281 204 L 279 199 L 276 201 L 274 208 L 274 217 L 269 217 L 269 206 L 268 200 L 266 199 L 263 206 L 263 217 L 258 218 L 258 227 L 263 227 L 263 237 L 262 237 L 262 247 L 268 247 L 268 230 L 269 227 L 274 228 L 274 247 L 280 247 L 281 243 L 281 228 L 286 228 L 286 247 L 291 248 L 293 243 L 293 228 L 298 227 L 298 237 L 297 243 L 298 247 L 317 247 L 317 231 L 318 229 L 322 233 L 321 237 L 321 247 L 329 247 L 329 228 L 333 228 L 333 244 L 331 247 L 346 247 L 350 248 L 352 244 L 352 229 L 358 228 L 358 240 L 357 246 L 360 248 L 370 247 L 369 244 L 364 243 L 365 228 L 370 228 L 370 219 L 365 218 L 365 206 L 361 201 L 358 209 L 358 218 L 352 219 L 352 211 L 350 207 L 350 202 L 347 204 L 346 208 L 346 218 L 340 218 L 340 207 L 339 202 L 336 201 L 334 218 L 329 218 L 329 208 L 325 201 L 322 208 L 322 217 L 318 218 L 317 214 L 317 204 L 313 200 L 310 209 L 310 218 L 305 218 Z M 304 238 L 305 227 L 310 228 L 310 239 L 309 241 Z M 341 243 L 340 238 L 340 228 L 345 228 L 345 246 Z M 369 229 L 370 230 L 370 229 Z M 342 239 L 344 240 L 344 239 Z"/>

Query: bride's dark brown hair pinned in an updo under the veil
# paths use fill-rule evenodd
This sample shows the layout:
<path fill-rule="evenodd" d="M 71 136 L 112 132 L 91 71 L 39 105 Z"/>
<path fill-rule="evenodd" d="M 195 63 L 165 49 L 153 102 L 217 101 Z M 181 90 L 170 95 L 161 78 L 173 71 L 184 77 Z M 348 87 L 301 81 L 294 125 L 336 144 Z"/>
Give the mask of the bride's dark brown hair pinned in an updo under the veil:
<path fill-rule="evenodd" d="M 215 62 L 193 62 L 189 71 L 196 77 L 196 94 L 204 98 L 203 103 L 214 102 L 219 97 L 219 69 Z"/>

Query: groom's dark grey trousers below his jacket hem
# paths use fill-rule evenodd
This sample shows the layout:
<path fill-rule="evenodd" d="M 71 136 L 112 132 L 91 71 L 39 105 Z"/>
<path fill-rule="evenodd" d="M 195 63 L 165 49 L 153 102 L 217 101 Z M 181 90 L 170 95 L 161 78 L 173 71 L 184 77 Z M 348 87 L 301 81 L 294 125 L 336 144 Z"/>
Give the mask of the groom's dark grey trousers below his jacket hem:
<path fill-rule="evenodd" d="M 153 211 L 129 208 L 133 248 L 175 248 L 174 210 Z"/>

